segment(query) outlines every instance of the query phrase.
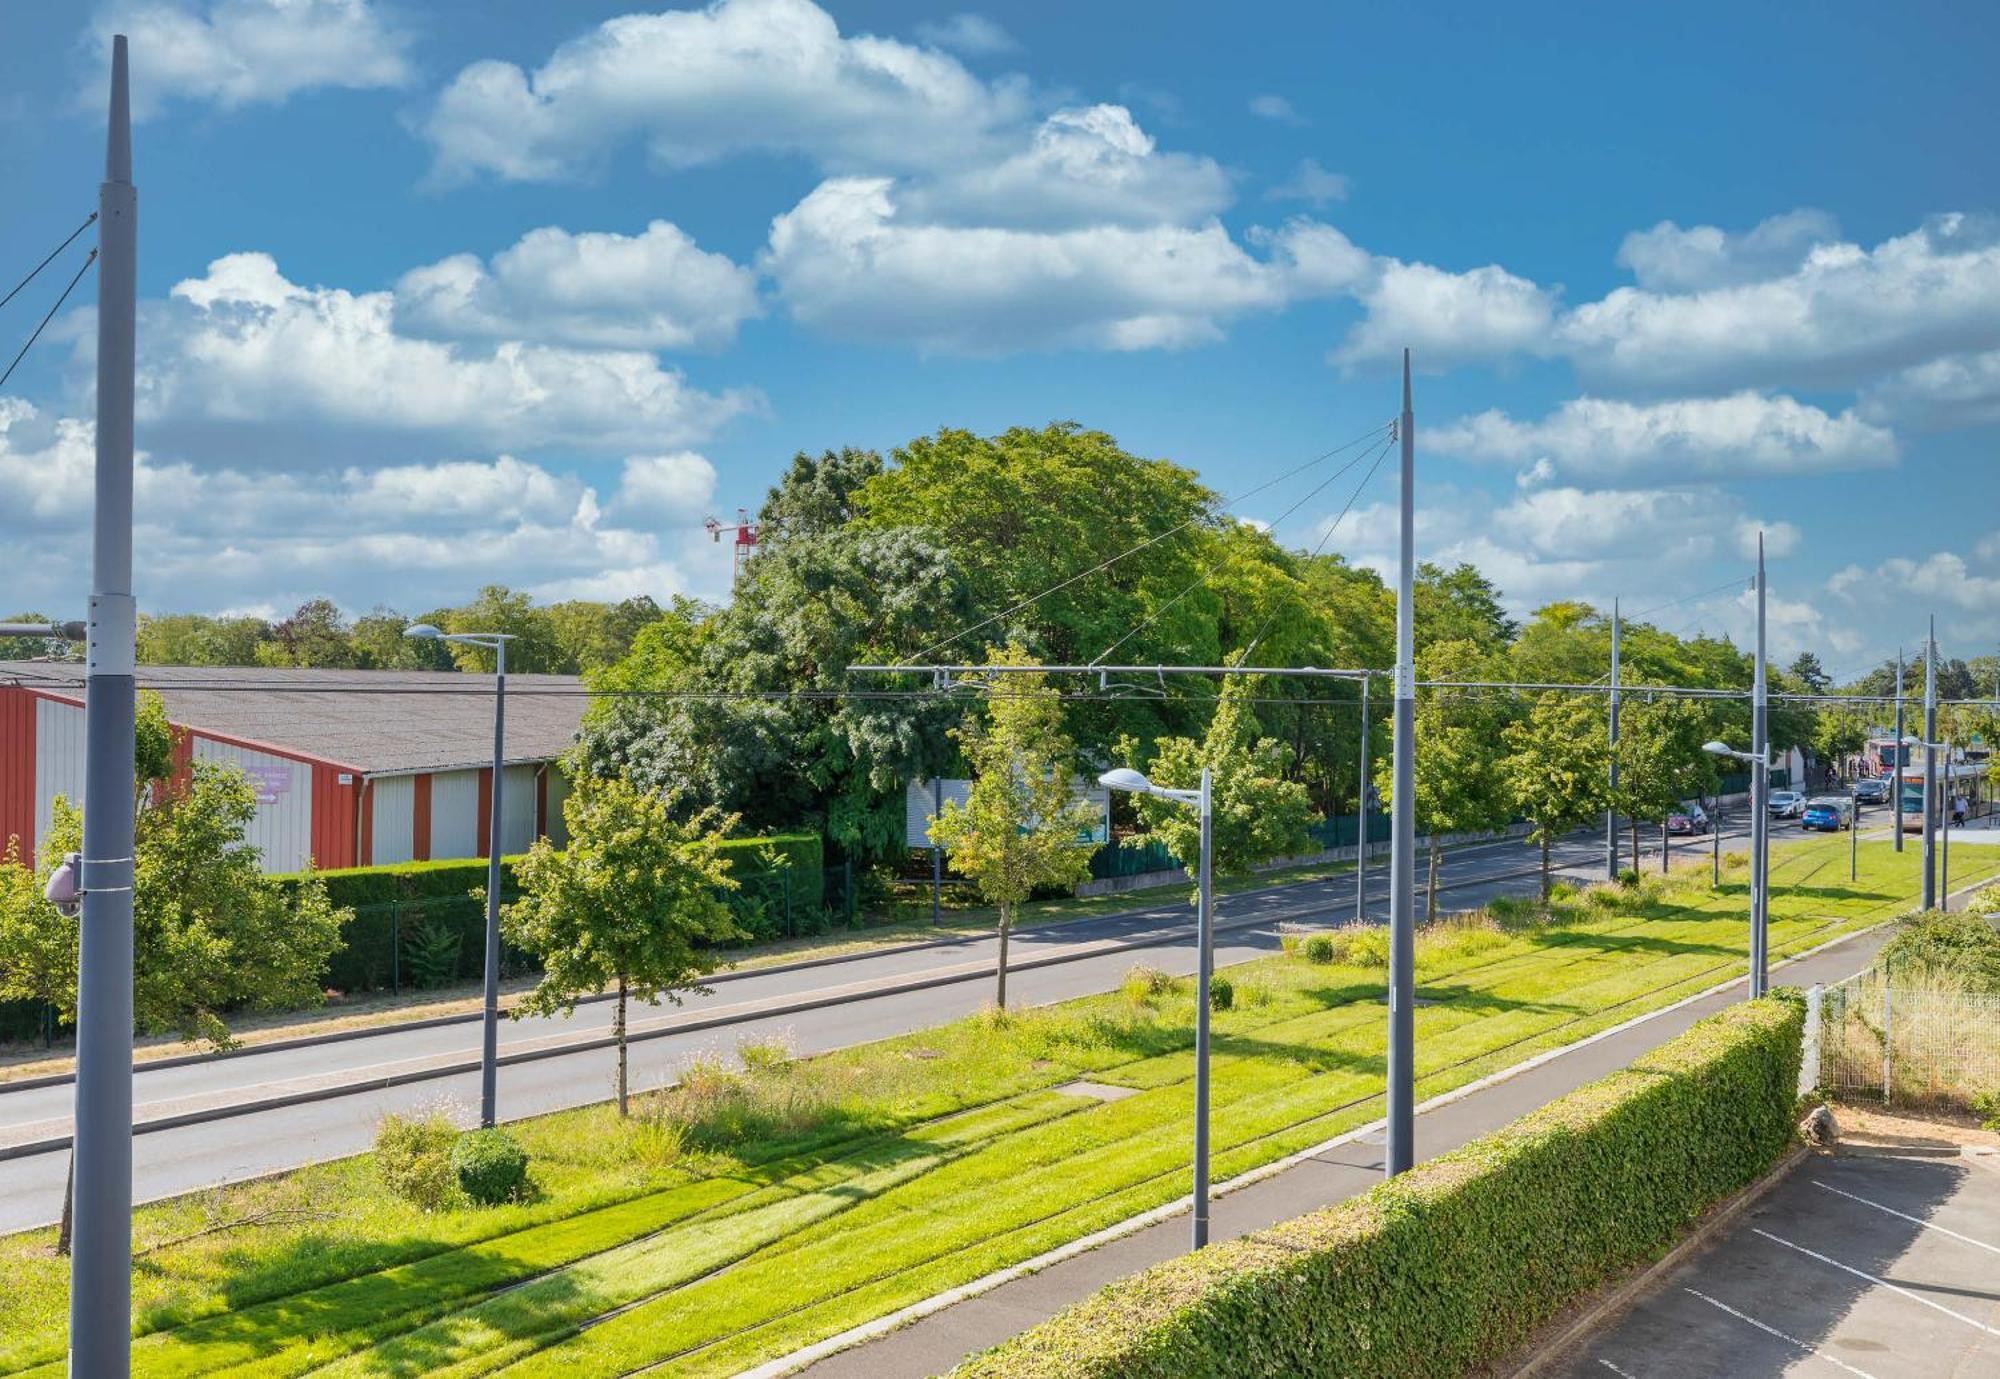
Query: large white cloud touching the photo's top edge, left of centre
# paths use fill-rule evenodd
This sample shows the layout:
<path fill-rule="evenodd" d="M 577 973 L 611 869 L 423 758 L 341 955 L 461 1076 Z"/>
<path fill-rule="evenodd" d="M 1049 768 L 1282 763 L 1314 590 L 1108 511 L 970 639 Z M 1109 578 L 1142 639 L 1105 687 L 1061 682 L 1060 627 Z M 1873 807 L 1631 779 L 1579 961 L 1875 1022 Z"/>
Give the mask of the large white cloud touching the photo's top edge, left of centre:
<path fill-rule="evenodd" d="M 812 0 L 716 0 L 606 20 L 534 72 L 474 62 L 422 130 L 444 178 L 574 178 L 628 140 L 668 168 L 762 152 L 902 172 L 988 150 L 1028 104 L 936 48 L 842 36 Z"/>

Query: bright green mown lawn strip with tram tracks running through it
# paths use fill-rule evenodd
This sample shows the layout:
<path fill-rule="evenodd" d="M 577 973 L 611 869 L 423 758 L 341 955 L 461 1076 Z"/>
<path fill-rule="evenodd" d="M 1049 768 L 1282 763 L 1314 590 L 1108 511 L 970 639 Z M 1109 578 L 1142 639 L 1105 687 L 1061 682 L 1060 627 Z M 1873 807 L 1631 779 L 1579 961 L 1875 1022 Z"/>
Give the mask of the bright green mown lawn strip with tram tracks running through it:
<path fill-rule="evenodd" d="M 1778 855 L 1776 955 L 1908 907 L 1914 849 L 1864 845 L 1848 883 L 1846 847 Z M 1714 893 L 1704 863 L 1550 915 L 1500 909 L 1420 943 L 1420 1095 L 1742 969 L 1740 863 Z M 1292 955 L 1228 975 L 1218 1179 L 1380 1115 L 1378 967 Z M 628 1123 L 526 1121 L 522 1205 L 424 1215 L 362 1155 L 146 1207 L 140 1247 L 168 1243 L 136 1267 L 134 1369 L 730 1375 L 1186 1193 L 1190 1045 L 1186 983 L 1132 981 L 814 1059 L 766 1049 Z M 1082 1075 L 1134 1095 L 1060 1089 Z M 288 1215 L 180 1239 L 260 1211 Z M 66 1269 L 48 1239 L 0 1241 L 0 1373 L 58 1373 Z"/>

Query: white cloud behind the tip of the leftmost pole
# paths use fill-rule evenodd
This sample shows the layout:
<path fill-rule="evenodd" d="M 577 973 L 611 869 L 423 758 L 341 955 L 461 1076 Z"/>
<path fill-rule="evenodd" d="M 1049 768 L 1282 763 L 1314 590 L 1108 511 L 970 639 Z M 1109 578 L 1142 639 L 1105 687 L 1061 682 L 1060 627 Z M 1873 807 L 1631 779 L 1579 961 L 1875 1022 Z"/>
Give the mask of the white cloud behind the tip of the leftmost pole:
<path fill-rule="evenodd" d="M 166 100 L 224 110 L 278 104 L 320 86 L 408 86 L 410 36 L 368 0 L 114 0 L 90 20 L 98 72 L 82 100 L 102 108 L 112 34 L 132 40 L 132 116 Z"/>

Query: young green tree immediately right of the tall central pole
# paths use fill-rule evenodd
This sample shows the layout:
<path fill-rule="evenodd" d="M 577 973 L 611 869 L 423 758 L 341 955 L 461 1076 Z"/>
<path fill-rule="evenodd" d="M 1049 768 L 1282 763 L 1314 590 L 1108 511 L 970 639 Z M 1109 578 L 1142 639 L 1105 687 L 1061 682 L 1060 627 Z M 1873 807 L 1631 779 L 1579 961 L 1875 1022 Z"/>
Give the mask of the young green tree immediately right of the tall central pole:
<path fill-rule="evenodd" d="M 1440 642 L 1418 658 L 1424 680 L 1486 680 L 1490 654 L 1478 642 Z M 1446 833 L 1506 827 L 1512 799 L 1502 773 L 1508 701 L 1478 690 L 1430 690 L 1416 701 L 1414 813 L 1430 839 L 1424 923 L 1438 917 L 1438 853 Z M 1396 765 L 1376 761 L 1376 789 L 1394 799 Z"/>

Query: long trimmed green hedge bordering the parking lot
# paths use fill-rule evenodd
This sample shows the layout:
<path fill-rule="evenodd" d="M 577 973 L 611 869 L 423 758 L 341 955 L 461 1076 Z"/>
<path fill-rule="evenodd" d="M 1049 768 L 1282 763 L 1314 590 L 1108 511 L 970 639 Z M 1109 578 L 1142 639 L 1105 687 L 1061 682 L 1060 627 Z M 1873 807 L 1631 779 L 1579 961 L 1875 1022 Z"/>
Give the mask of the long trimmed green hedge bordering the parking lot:
<path fill-rule="evenodd" d="M 954 1379 L 1444 1379 L 1656 1257 L 1792 1139 L 1804 1001 L 1632 1067 L 1338 1207 L 1122 1279 Z"/>

